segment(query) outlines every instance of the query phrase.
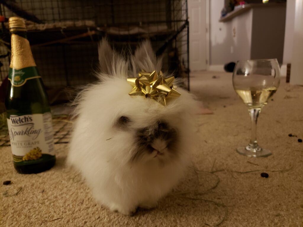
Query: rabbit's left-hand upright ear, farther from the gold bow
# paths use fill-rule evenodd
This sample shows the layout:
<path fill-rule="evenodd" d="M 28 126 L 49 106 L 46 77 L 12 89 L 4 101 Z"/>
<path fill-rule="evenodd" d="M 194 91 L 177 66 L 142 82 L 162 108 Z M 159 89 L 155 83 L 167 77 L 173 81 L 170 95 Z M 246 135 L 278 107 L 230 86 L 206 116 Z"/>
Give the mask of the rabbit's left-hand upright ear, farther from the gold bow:
<path fill-rule="evenodd" d="M 128 62 L 116 51 L 112 50 L 106 38 L 103 38 L 100 42 L 98 54 L 99 69 L 103 75 L 127 77 Z"/>

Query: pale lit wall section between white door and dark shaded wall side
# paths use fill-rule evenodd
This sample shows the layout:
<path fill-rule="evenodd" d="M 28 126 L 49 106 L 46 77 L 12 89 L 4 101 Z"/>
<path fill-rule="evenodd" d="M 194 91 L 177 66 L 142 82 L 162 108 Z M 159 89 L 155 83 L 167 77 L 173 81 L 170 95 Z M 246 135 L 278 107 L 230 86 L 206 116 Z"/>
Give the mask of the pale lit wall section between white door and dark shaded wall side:
<path fill-rule="evenodd" d="M 250 59 L 252 10 L 219 22 L 223 6 L 224 0 L 210 0 L 210 65 Z"/>

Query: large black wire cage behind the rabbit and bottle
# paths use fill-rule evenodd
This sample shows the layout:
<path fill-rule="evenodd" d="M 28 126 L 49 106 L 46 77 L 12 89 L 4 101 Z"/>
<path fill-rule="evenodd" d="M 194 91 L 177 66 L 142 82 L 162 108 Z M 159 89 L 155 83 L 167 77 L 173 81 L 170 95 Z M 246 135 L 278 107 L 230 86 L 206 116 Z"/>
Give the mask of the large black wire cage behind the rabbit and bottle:
<path fill-rule="evenodd" d="M 46 87 L 85 85 L 96 80 L 98 42 L 117 50 L 150 39 L 162 71 L 189 90 L 187 0 L 0 0 L 5 18 L 26 20 L 28 40 Z M 2 22 L 1 80 L 8 75 L 8 22 Z"/>

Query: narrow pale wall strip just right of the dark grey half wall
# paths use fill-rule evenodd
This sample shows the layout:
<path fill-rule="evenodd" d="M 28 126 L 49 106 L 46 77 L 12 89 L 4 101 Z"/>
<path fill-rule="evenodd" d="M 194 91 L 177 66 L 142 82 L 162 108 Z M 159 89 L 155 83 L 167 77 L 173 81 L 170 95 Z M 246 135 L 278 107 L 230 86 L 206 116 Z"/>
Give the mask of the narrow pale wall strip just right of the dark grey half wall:
<path fill-rule="evenodd" d="M 295 26 L 295 0 L 286 2 L 286 23 L 283 51 L 283 64 L 291 63 Z"/>

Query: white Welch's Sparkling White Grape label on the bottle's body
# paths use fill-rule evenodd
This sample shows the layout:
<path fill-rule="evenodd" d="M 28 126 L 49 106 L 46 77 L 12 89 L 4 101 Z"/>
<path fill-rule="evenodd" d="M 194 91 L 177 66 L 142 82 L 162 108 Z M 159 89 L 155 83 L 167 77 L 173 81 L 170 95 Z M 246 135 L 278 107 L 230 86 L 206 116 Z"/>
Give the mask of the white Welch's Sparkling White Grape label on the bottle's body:
<path fill-rule="evenodd" d="M 10 115 L 7 123 L 15 163 L 22 165 L 41 163 L 55 155 L 50 112 Z"/>

